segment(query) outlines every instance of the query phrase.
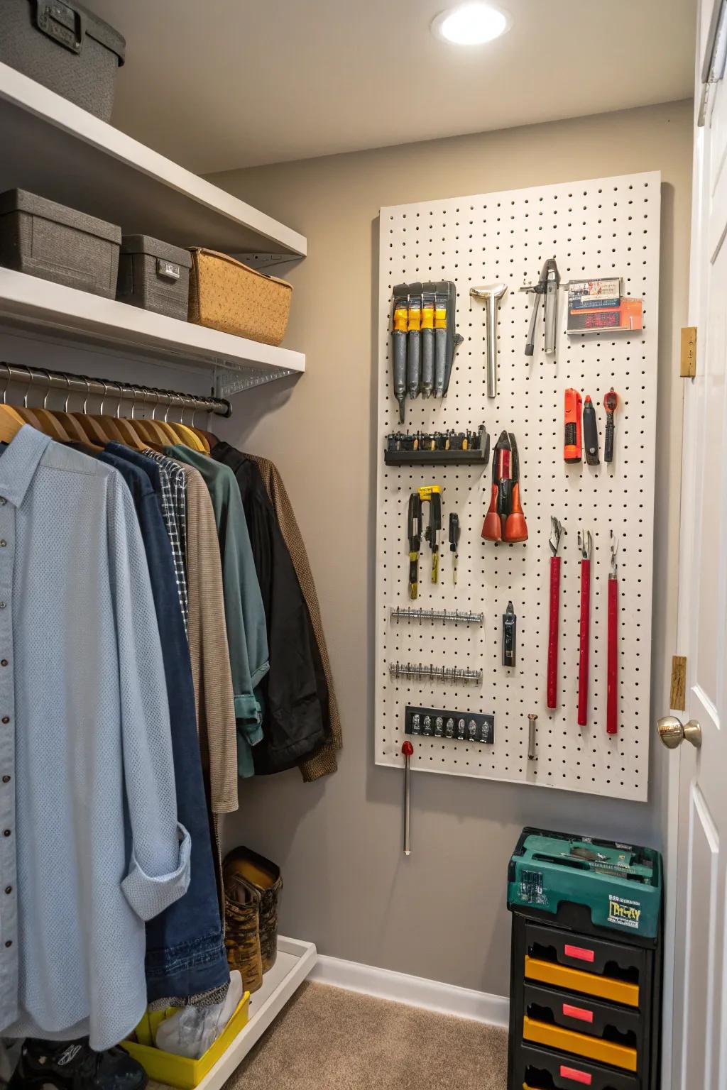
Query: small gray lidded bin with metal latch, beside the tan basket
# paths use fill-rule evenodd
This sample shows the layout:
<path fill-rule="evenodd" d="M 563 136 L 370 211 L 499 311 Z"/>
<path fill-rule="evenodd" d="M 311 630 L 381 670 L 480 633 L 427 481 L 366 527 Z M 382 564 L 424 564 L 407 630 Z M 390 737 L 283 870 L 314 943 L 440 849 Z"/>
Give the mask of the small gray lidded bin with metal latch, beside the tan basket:
<path fill-rule="evenodd" d="M 186 322 L 191 268 L 189 250 L 148 234 L 124 234 L 117 299 Z"/>

